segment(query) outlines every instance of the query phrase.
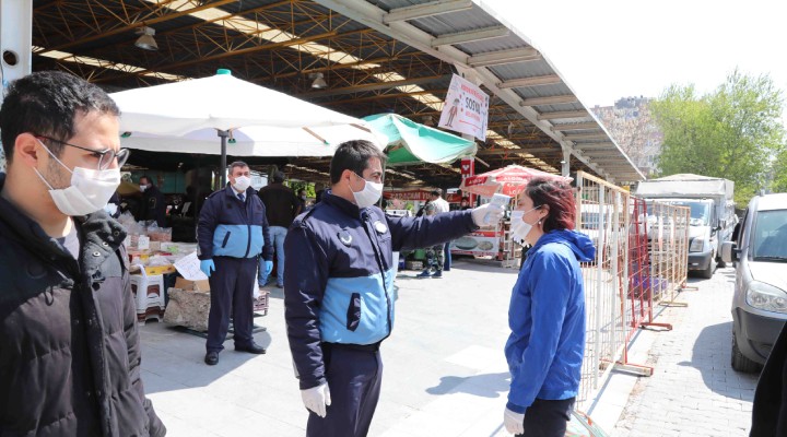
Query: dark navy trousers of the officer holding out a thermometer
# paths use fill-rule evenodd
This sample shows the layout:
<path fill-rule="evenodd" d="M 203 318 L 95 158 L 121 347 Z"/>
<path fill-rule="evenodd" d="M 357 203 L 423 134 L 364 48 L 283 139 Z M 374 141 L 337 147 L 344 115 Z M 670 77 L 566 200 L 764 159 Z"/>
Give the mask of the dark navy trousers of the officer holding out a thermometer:
<path fill-rule="evenodd" d="M 306 437 L 365 437 L 379 400 L 379 351 L 322 346 L 331 404 L 325 418 L 309 412 Z"/>

